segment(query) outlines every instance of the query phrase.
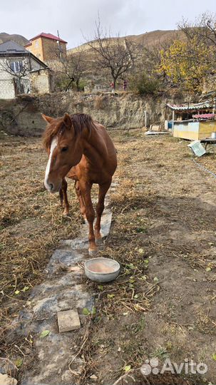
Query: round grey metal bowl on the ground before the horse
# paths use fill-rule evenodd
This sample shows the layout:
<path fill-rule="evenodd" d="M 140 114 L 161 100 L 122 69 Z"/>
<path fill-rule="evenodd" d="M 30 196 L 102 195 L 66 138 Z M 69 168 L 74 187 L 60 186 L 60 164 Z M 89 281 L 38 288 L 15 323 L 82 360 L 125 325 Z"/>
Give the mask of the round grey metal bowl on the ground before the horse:
<path fill-rule="evenodd" d="M 109 258 L 92 258 L 85 262 L 86 276 L 95 282 L 110 282 L 118 277 L 120 265 Z"/>

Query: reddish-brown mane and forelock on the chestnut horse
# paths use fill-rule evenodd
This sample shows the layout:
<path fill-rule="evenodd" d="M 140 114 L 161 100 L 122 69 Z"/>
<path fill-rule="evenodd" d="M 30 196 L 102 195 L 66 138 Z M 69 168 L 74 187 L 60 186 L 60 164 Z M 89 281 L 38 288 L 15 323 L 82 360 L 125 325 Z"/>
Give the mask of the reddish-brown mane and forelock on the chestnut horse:
<path fill-rule="evenodd" d="M 87 128 L 90 137 L 91 130 L 96 128 L 93 119 L 86 113 L 73 113 L 73 115 L 71 115 L 71 121 L 76 136 L 81 135 L 83 128 Z M 63 121 L 63 117 L 56 118 L 46 127 L 46 130 L 43 133 L 43 145 L 47 150 L 50 148 L 53 138 L 63 134 L 64 130 L 66 130 L 66 125 Z"/>

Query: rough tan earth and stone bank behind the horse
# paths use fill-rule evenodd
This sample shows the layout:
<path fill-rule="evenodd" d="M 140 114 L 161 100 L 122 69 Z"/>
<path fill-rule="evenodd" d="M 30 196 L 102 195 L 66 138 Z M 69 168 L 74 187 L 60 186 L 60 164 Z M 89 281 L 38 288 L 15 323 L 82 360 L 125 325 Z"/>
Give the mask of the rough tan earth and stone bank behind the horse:
<path fill-rule="evenodd" d="M 140 97 L 132 93 L 53 93 L 40 97 L 19 96 L 14 101 L 0 101 L 1 129 L 14 135 L 38 136 L 46 123 L 41 113 L 63 116 L 63 113 L 88 113 L 108 129 L 141 128 L 146 123 L 163 123 L 168 98 Z M 173 101 L 173 99 L 172 99 Z"/>

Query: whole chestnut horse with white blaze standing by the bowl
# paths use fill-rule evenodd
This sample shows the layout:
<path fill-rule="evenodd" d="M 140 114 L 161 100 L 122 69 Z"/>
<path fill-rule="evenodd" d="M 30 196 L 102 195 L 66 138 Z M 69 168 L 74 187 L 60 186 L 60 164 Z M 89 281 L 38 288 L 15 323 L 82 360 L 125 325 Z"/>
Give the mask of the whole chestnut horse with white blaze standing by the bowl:
<path fill-rule="evenodd" d="M 97 250 L 96 240 L 101 239 L 104 199 L 117 167 L 115 147 L 103 125 L 84 113 L 72 116 L 65 113 L 62 118 L 56 119 L 45 115 L 42 117 L 48 123 L 43 143 L 49 155 L 44 185 L 50 193 L 61 190 L 61 197 L 66 198 L 65 177 L 76 181 L 81 213 L 88 220 L 88 251 L 91 255 Z M 95 211 L 91 201 L 93 183 L 99 185 L 95 232 Z"/>

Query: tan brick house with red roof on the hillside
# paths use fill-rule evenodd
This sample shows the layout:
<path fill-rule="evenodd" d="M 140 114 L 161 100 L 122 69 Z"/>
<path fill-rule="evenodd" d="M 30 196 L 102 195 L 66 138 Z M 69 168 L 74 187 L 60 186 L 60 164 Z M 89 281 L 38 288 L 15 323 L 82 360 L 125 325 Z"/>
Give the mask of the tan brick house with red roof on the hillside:
<path fill-rule="evenodd" d="M 30 39 L 25 48 L 41 61 L 47 62 L 66 57 L 66 44 L 67 41 L 60 39 L 59 36 L 42 32 Z"/>

